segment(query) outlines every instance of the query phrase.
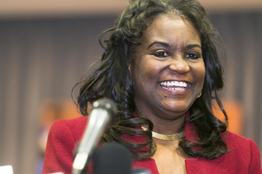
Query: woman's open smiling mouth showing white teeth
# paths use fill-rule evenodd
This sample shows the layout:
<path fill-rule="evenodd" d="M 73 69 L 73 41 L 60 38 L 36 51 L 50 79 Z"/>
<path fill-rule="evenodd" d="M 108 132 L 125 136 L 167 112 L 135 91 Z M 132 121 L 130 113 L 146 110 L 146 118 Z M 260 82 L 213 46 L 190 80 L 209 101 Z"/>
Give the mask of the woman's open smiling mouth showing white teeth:
<path fill-rule="evenodd" d="M 167 90 L 187 90 L 190 88 L 190 84 L 184 81 L 164 81 L 159 83 L 163 89 Z"/>

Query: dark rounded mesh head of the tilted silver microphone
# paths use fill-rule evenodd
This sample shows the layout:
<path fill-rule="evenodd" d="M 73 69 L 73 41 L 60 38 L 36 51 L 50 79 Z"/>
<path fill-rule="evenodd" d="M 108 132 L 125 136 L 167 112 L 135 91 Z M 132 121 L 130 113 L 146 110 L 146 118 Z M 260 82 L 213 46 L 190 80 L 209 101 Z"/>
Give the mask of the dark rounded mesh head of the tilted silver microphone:
<path fill-rule="evenodd" d="M 103 99 L 99 99 L 97 101 L 95 101 L 92 105 L 92 110 L 97 109 L 97 108 L 101 108 L 101 109 L 105 109 L 107 110 L 107 112 L 109 112 L 109 114 L 111 115 L 111 124 L 114 123 L 115 120 L 115 116 L 117 114 L 117 107 L 116 104 L 114 103 L 113 100 L 109 99 L 109 98 L 103 98 Z M 91 110 L 91 112 L 92 112 Z"/>

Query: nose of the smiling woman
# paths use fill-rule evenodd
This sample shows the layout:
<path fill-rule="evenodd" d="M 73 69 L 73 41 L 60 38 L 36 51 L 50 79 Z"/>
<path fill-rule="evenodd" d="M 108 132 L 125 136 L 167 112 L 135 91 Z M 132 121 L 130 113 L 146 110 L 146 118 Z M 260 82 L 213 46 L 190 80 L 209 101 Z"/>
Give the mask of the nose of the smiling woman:
<path fill-rule="evenodd" d="M 190 71 L 190 66 L 188 65 L 187 60 L 185 60 L 183 57 L 176 57 L 172 58 L 168 69 L 179 74 L 184 74 Z"/>

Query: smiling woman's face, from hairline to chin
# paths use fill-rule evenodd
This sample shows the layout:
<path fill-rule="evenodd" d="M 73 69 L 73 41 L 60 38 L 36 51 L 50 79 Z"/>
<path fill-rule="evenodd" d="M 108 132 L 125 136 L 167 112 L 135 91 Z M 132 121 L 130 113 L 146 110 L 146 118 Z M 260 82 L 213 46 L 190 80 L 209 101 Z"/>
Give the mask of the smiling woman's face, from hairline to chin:
<path fill-rule="evenodd" d="M 137 108 L 165 119 L 184 115 L 201 93 L 205 78 L 198 31 L 177 15 L 160 16 L 139 41 L 129 64 Z"/>

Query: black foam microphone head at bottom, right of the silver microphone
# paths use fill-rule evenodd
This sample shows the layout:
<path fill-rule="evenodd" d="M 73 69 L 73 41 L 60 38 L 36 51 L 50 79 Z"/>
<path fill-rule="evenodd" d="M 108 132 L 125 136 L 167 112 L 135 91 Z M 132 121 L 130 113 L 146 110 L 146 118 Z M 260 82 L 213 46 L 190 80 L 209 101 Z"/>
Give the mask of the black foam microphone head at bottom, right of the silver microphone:
<path fill-rule="evenodd" d="M 94 174 L 131 174 L 129 149 L 119 143 L 109 143 L 94 154 Z"/>

